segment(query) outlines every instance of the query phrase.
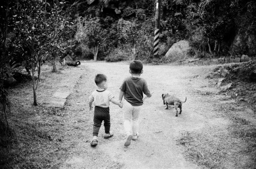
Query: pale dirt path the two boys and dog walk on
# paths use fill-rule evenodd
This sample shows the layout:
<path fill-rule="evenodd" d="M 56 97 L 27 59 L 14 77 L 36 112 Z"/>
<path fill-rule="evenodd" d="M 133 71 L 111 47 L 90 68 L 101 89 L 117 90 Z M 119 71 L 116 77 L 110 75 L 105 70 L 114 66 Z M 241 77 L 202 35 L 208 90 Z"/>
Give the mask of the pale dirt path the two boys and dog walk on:
<path fill-rule="evenodd" d="M 117 98 L 122 80 L 130 76 L 128 63 L 85 62 L 81 66 L 94 71 L 95 74 L 106 74 L 109 80 L 108 90 Z M 111 104 L 111 130 L 114 137 L 108 140 L 101 138 L 104 133 L 102 126 L 99 145 L 92 148 L 89 141 L 79 144 L 78 149 L 83 149 L 84 153 L 70 155 L 62 168 L 90 168 L 89 166 L 92 165 L 85 162 L 90 158 L 92 158 L 89 160 L 90 163 L 97 163 L 97 159 L 107 159 L 107 162 L 98 161 L 101 166 L 97 168 L 200 168 L 182 157 L 181 148 L 175 140 L 180 137 L 180 132 L 183 130 L 198 131 L 207 127 L 228 125 L 227 120 L 216 118 L 216 115 L 213 115 L 215 112 L 212 103 L 218 102 L 225 96 L 209 97 L 198 94 L 200 92 L 217 92 L 214 88 L 208 88 L 207 80 L 204 79 L 207 71 L 212 67 L 214 66 L 145 65 L 141 77 L 148 82 L 149 90 L 155 92 L 151 98 L 145 101 L 141 110 L 138 140 L 132 141 L 129 147 L 123 146 L 124 132 L 121 109 Z M 91 88 L 93 90 L 94 86 Z M 164 109 L 162 93 L 175 94 L 181 100 L 187 97 L 181 115 L 178 114 L 176 117 L 173 108 Z M 87 110 L 87 105 L 84 107 Z M 92 124 L 92 121 L 90 123 Z M 91 135 L 91 132 L 89 134 Z"/>

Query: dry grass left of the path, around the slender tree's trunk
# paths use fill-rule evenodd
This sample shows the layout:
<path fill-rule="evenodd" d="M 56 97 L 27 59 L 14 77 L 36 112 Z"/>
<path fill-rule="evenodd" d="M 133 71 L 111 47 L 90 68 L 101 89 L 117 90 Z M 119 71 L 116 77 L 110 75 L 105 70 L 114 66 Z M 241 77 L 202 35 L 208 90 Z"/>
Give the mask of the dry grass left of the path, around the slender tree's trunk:
<path fill-rule="evenodd" d="M 70 127 L 66 123 L 69 112 L 52 107 L 50 98 L 60 87 L 73 91 L 81 70 L 67 67 L 57 73 L 50 71 L 50 66 L 42 69 L 38 106 L 32 105 L 30 81 L 8 89 L 13 105 L 8 115 L 11 130 L 0 133 L 0 168 L 59 168 L 75 144 L 64 141 Z"/>

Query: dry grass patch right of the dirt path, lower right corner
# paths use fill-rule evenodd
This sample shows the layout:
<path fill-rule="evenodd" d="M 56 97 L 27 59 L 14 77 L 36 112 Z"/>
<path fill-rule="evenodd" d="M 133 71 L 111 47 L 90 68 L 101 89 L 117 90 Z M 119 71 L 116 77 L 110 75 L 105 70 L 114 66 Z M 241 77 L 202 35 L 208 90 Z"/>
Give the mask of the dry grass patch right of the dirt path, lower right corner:
<path fill-rule="evenodd" d="M 231 120 L 228 127 L 211 127 L 200 132 L 184 131 L 177 144 L 184 146 L 185 158 L 207 168 L 255 169 L 256 128 L 233 114 L 234 104 L 216 108 Z"/>

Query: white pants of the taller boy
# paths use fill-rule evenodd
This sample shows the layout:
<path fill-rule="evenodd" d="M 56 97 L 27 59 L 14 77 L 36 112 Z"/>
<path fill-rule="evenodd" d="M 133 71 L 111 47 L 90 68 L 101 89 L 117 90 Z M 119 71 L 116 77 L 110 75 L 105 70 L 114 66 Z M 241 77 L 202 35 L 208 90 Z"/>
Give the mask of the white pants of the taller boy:
<path fill-rule="evenodd" d="M 123 103 L 123 126 L 125 133 L 136 135 L 139 125 L 139 113 L 141 106 L 133 106 L 126 100 Z"/>

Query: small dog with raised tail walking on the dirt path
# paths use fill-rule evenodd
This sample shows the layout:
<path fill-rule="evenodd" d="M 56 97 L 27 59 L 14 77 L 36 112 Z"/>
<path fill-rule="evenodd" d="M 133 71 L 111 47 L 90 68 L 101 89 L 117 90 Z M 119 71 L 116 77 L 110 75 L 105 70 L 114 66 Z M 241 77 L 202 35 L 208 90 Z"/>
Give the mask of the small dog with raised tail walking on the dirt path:
<path fill-rule="evenodd" d="M 162 94 L 162 99 L 164 101 L 164 104 L 166 104 L 166 106 L 167 106 L 165 109 L 168 109 L 168 104 L 169 105 L 174 105 L 174 108 L 176 109 L 176 115 L 175 116 L 178 116 L 177 108 L 179 108 L 179 114 L 181 114 L 181 112 L 182 112 L 182 103 L 185 103 L 187 101 L 187 97 L 186 97 L 185 101 L 182 102 L 177 97 L 175 97 L 173 95 L 169 95 L 168 93 L 167 94 Z"/>

